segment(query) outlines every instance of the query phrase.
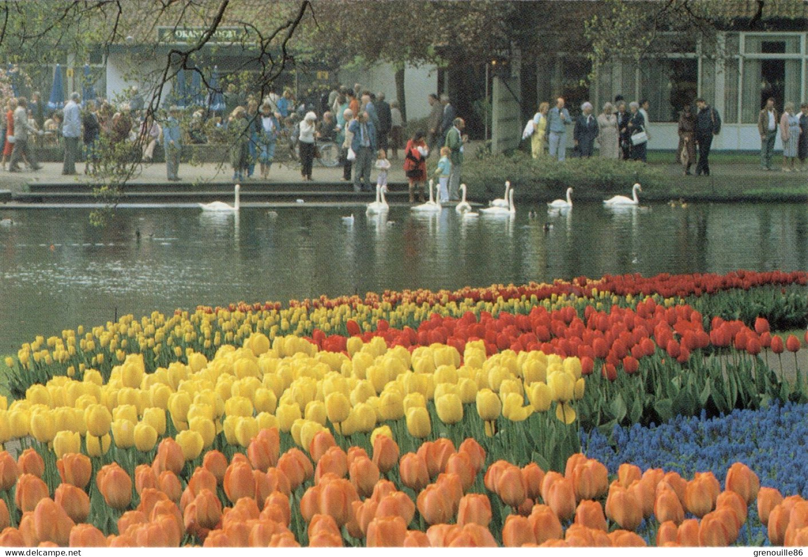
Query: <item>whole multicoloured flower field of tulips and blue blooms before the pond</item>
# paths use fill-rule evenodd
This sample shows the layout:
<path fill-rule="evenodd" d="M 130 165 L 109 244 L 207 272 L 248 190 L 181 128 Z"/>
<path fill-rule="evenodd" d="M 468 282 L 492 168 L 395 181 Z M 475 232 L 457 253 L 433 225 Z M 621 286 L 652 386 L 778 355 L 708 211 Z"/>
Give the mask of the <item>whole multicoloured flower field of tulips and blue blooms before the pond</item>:
<path fill-rule="evenodd" d="M 806 285 L 579 277 L 40 336 L 5 362 L 0 545 L 806 546 L 808 466 L 778 449 L 808 433 Z"/>

